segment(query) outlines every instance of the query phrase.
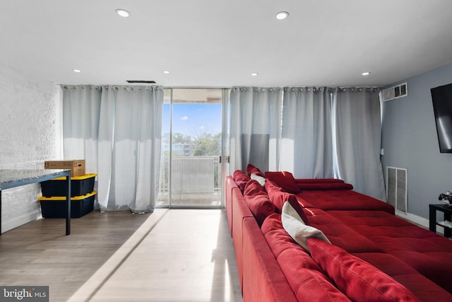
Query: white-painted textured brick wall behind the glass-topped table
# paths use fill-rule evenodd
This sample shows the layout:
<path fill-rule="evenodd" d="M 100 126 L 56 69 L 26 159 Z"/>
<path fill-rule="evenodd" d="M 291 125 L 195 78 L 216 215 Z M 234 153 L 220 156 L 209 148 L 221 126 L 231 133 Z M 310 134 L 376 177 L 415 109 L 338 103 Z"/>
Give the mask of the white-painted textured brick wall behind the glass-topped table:
<path fill-rule="evenodd" d="M 0 169 L 42 168 L 61 158 L 60 112 L 59 86 L 0 66 Z M 39 194 L 39 184 L 1 192 L 2 232 L 40 218 Z"/>

